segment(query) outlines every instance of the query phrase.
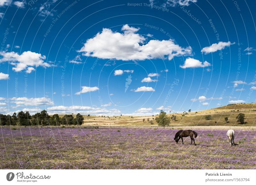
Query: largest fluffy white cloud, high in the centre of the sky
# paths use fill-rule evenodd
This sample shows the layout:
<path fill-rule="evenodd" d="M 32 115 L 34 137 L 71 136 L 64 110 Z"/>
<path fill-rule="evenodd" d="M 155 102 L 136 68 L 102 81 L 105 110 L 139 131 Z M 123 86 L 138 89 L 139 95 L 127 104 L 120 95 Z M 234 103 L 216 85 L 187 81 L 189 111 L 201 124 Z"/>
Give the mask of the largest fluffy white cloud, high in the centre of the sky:
<path fill-rule="evenodd" d="M 103 28 L 101 33 L 88 39 L 78 52 L 83 52 L 84 56 L 123 61 L 156 58 L 172 60 L 174 56 L 185 56 L 192 53 L 190 47 L 182 48 L 172 40 L 150 40 L 146 43 L 147 39 L 136 33 L 139 29 L 129 25 L 124 25 L 121 30 L 124 33 Z"/>

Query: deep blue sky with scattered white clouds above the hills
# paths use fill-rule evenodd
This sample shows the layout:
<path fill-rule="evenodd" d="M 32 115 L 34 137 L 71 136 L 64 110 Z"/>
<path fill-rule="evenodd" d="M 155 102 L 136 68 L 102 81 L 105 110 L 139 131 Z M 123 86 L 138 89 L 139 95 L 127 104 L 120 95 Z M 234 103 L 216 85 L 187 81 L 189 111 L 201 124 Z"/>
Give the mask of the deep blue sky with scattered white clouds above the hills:
<path fill-rule="evenodd" d="M 255 1 L 0 0 L 0 113 L 255 102 Z"/>

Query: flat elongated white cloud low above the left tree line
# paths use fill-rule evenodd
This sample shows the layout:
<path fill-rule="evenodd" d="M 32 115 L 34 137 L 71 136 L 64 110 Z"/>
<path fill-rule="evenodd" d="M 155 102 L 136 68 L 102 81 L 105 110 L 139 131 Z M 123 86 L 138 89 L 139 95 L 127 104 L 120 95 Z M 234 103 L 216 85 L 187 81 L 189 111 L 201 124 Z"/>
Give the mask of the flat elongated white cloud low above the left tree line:
<path fill-rule="evenodd" d="M 20 106 L 48 106 L 53 105 L 53 101 L 49 98 L 27 98 L 27 97 L 20 97 L 16 98 L 13 97 L 10 99 L 11 103 L 15 103 L 16 107 Z"/>

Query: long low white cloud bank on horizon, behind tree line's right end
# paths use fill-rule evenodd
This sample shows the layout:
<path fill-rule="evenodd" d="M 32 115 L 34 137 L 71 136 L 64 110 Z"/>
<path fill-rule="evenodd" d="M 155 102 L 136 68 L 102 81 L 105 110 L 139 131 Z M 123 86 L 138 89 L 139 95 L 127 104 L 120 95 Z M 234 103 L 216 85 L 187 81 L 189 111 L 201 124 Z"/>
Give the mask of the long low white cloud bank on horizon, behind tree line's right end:
<path fill-rule="evenodd" d="M 101 107 L 89 107 L 89 106 L 55 106 L 48 107 L 47 112 L 50 114 L 93 114 L 93 115 L 119 115 L 121 113 L 118 109 L 106 109 Z"/>

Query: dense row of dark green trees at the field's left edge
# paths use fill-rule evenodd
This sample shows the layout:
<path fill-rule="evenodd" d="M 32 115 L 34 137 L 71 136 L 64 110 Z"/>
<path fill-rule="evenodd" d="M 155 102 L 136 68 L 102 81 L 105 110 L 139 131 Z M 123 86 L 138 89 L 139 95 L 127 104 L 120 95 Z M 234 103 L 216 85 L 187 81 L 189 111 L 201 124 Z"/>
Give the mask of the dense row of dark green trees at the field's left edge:
<path fill-rule="evenodd" d="M 46 110 L 42 110 L 40 113 L 30 115 L 29 111 L 20 111 L 18 114 L 13 113 L 13 115 L 3 115 L 0 114 L 0 125 L 38 125 L 38 126 L 57 126 L 57 125 L 82 125 L 84 122 L 84 117 L 81 114 L 77 115 L 64 115 L 60 117 L 58 114 L 50 116 Z"/>

